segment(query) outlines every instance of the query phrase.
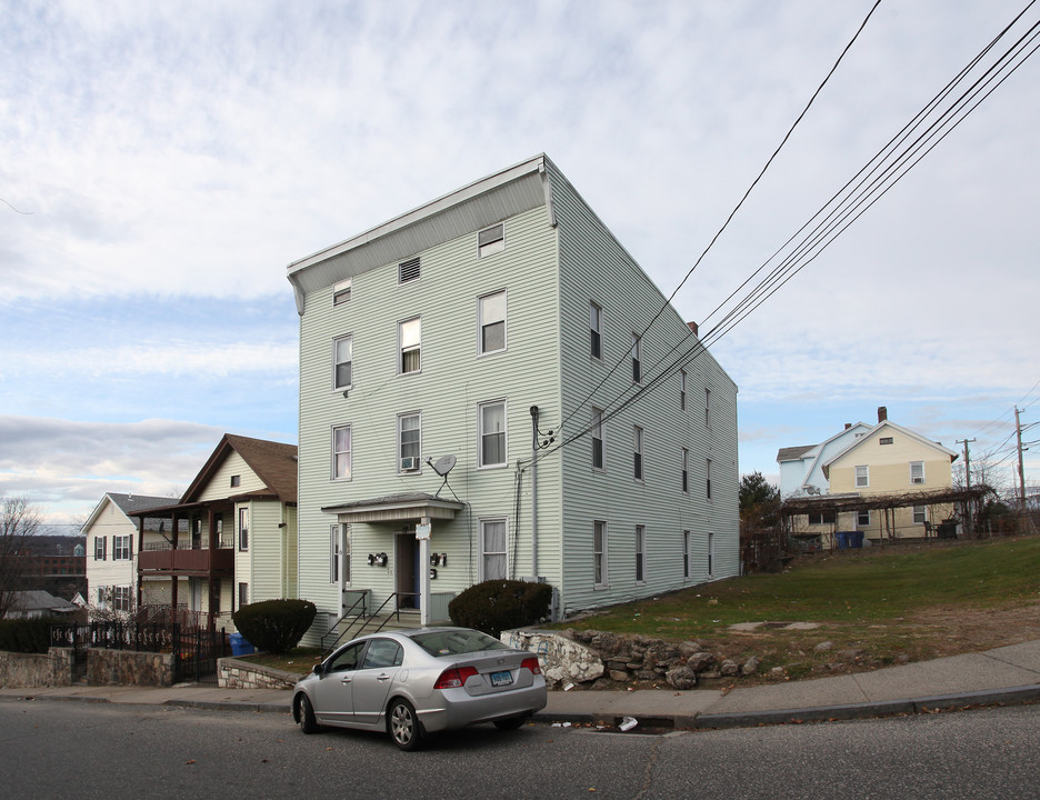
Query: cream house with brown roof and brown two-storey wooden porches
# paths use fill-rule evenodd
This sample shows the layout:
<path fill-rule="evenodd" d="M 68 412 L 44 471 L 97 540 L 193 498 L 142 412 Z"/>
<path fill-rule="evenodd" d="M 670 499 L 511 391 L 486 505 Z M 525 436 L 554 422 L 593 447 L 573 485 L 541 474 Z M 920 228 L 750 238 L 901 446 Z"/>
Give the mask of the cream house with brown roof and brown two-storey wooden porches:
<path fill-rule="evenodd" d="M 132 516 L 139 607 L 190 611 L 231 631 L 240 606 L 296 597 L 294 444 L 226 433 L 180 502 Z M 144 540 L 146 517 L 170 520 L 163 540 Z"/>

